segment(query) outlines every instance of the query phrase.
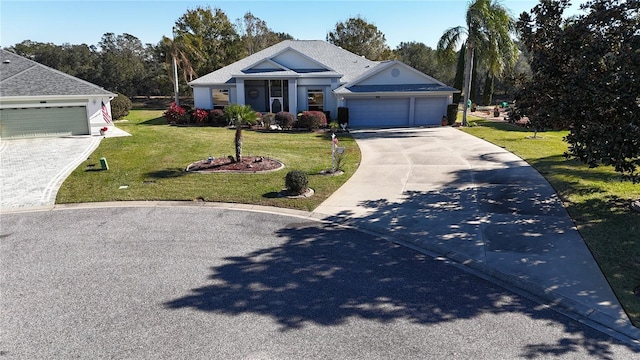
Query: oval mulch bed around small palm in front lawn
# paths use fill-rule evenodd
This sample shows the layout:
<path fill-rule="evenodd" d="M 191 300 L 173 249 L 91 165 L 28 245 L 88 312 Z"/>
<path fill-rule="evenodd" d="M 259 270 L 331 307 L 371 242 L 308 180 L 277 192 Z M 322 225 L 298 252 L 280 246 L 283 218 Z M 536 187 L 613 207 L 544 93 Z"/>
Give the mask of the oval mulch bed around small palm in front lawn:
<path fill-rule="evenodd" d="M 232 161 L 229 158 L 214 158 L 196 161 L 187 166 L 188 172 L 239 172 L 258 173 L 276 171 L 284 167 L 284 164 L 276 159 L 262 156 L 244 156 L 241 162 Z"/>

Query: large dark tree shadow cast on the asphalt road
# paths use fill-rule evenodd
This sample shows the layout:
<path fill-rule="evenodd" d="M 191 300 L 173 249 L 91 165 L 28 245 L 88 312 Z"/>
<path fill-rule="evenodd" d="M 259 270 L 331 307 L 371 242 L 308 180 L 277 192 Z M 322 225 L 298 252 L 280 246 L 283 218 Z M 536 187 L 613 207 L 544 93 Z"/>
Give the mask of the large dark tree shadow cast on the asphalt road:
<path fill-rule="evenodd" d="M 281 245 L 225 258 L 225 264 L 210 269 L 207 284 L 165 306 L 259 314 L 280 324 L 281 331 L 308 324 L 337 326 L 352 318 L 426 326 L 486 314 L 522 313 L 567 331 L 558 344 L 523 349 L 524 357 L 557 349 L 569 352 L 571 348 L 562 344 L 570 343 L 599 358 L 612 358 L 610 340 L 601 333 L 572 328 L 569 319 L 447 261 L 360 231 L 315 222 L 290 224 L 277 235 Z"/>

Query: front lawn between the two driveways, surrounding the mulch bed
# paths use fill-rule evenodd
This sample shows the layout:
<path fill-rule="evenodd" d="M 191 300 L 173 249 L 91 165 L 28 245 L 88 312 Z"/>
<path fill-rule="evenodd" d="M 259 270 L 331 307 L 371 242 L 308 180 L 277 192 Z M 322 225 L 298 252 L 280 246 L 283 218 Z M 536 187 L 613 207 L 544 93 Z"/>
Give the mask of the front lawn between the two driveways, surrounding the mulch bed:
<path fill-rule="evenodd" d="M 360 150 L 347 133 L 338 134 L 346 147 L 345 174 L 324 176 L 331 168 L 331 138 L 312 132 L 245 130 L 244 156 L 265 156 L 285 164 L 261 174 L 187 173 L 190 163 L 209 156 L 235 155 L 235 130 L 215 127 L 178 127 L 166 124 L 160 110 L 134 110 L 117 127 L 132 136 L 103 139 L 91 157 L 79 166 L 58 192 L 57 203 L 121 200 L 187 200 L 270 205 L 313 210 L 355 171 Z M 108 171 L 100 168 L 106 158 Z M 306 199 L 278 198 L 290 170 L 309 175 L 315 195 Z M 120 189 L 122 186 L 127 188 Z M 87 191 L 87 189 L 89 189 Z"/>

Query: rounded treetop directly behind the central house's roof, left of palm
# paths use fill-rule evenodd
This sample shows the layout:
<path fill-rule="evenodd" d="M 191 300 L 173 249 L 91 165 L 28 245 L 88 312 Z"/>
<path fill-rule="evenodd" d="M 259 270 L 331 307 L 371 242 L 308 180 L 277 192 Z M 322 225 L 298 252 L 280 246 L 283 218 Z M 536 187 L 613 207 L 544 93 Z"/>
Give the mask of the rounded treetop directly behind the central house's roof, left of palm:
<path fill-rule="evenodd" d="M 394 57 L 382 31 L 360 16 L 337 23 L 335 29 L 327 34 L 327 41 L 369 60 Z"/>

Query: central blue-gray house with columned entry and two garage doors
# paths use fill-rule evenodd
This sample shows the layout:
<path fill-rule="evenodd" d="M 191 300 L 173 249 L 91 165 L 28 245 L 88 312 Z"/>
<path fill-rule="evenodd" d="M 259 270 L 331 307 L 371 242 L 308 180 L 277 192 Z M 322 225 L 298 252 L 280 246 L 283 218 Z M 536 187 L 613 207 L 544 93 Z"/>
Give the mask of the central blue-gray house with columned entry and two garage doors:
<path fill-rule="evenodd" d="M 439 125 L 458 90 L 400 61 L 371 61 L 320 40 L 286 40 L 189 85 L 194 105 L 260 112 L 349 109 L 351 127 Z"/>

